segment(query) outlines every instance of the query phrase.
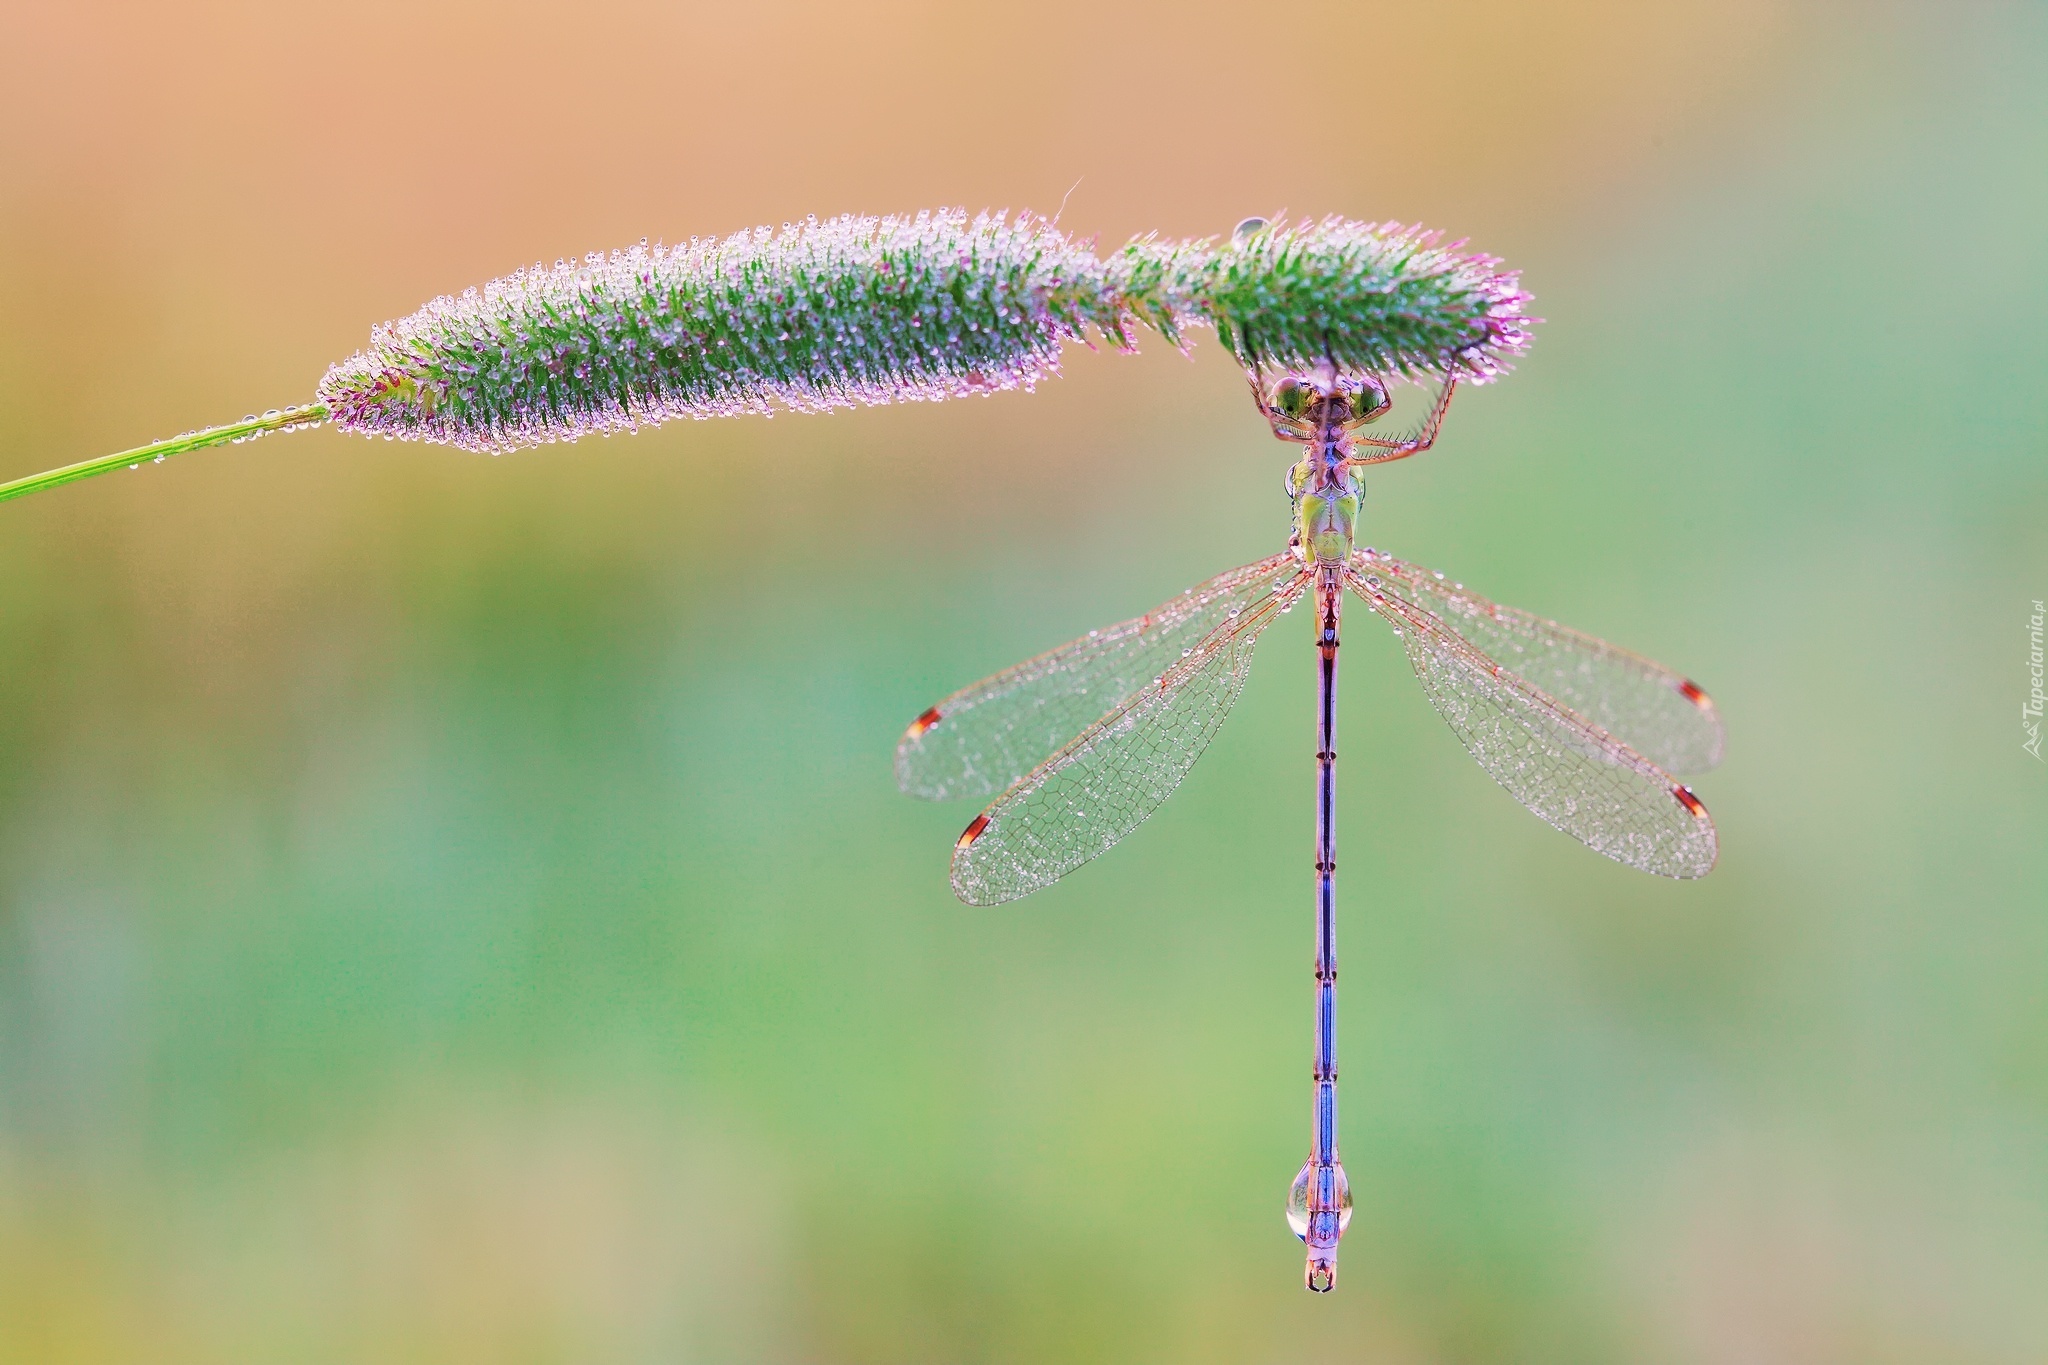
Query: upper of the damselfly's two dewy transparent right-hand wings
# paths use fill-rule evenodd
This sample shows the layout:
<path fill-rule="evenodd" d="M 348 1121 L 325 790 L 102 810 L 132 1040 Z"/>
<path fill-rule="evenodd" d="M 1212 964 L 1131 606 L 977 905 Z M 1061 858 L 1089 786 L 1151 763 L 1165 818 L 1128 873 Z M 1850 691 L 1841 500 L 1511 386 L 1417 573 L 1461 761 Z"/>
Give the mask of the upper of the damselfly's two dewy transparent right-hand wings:
<path fill-rule="evenodd" d="M 1464 583 L 1358 551 L 1352 567 L 1389 598 L 1421 608 L 1479 653 L 1563 702 L 1665 772 L 1720 763 L 1720 712 L 1688 677 L 1554 620 L 1495 606 Z"/>

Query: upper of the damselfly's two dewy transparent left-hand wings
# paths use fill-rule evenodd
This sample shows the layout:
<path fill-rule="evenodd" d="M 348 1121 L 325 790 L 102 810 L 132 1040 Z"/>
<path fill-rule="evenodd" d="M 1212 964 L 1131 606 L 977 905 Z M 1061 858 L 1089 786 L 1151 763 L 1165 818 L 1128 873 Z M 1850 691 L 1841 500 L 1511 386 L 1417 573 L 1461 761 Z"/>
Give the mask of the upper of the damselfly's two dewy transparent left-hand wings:
<path fill-rule="evenodd" d="M 928 800 L 1001 792 L 1298 569 L 1292 555 L 1231 569 L 1157 610 L 961 688 L 903 731 L 897 786 Z"/>

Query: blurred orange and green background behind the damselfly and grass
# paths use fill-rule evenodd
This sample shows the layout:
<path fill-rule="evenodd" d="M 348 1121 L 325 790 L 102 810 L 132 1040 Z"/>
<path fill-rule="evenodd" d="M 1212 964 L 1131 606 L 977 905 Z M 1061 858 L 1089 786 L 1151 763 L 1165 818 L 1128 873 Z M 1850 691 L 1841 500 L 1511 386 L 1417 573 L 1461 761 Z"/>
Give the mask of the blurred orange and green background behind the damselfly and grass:
<path fill-rule="evenodd" d="M 1352 626 L 1358 1216 L 1311 1300 L 1305 622 L 1022 905 L 952 900 L 969 812 L 889 767 L 1280 544 L 1212 342 L 10 503 L 0 1359 L 2048 1357 L 2040 4 L 8 0 L 0 53 L 4 477 L 643 235 L 1419 219 L 1548 323 L 1368 538 L 1731 729 L 1722 864 L 1657 882 Z"/>

